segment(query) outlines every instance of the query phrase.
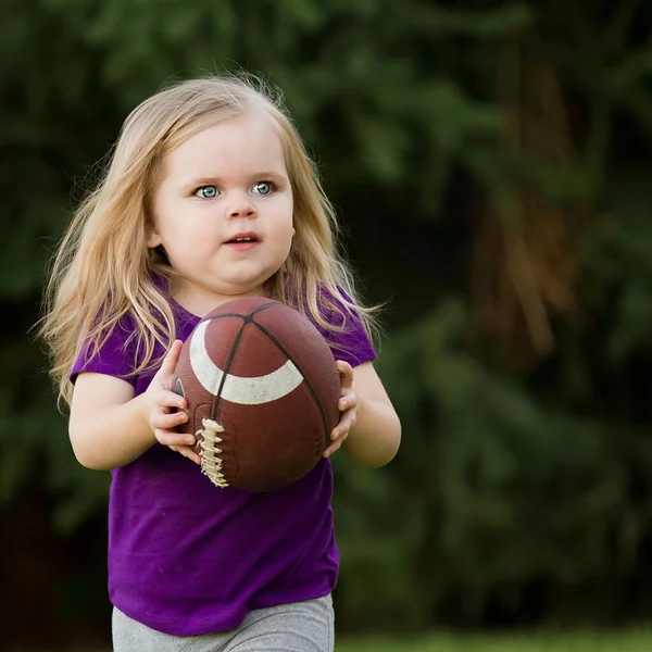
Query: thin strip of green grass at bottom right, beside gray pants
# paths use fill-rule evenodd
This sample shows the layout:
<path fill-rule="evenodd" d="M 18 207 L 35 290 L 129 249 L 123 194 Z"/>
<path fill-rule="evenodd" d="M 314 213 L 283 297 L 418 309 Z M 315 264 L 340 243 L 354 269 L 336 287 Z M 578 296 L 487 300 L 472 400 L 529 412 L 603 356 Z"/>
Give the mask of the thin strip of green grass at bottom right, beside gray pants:
<path fill-rule="evenodd" d="M 652 652 L 649 631 L 350 639 L 336 652 Z"/>

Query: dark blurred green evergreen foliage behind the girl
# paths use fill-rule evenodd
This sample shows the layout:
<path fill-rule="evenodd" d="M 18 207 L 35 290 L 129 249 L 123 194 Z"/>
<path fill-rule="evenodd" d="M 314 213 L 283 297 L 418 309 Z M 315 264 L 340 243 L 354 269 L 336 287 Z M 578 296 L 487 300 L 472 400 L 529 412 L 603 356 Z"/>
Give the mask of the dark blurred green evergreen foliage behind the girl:
<path fill-rule="evenodd" d="M 105 509 L 29 333 L 46 264 L 137 102 L 247 70 L 284 89 L 366 298 L 389 299 L 404 442 L 380 471 L 336 459 L 341 626 L 650 613 L 650 7 L 3 9 L 0 518 L 40 491 L 73 549 Z"/>

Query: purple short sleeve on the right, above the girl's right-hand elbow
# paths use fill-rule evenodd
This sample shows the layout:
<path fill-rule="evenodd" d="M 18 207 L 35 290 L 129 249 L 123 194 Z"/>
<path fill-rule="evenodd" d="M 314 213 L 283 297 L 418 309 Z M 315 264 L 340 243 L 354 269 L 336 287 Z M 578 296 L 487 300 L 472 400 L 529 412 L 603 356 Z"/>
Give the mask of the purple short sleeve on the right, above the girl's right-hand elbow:
<path fill-rule="evenodd" d="M 351 366 L 358 366 L 364 362 L 375 360 L 376 351 L 360 313 L 346 306 L 330 294 L 328 294 L 328 299 L 339 309 L 330 310 L 325 315 L 327 322 L 338 328 L 338 330 L 327 330 L 324 333 L 324 337 L 330 346 L 335 359 L 343 360 Z"/>

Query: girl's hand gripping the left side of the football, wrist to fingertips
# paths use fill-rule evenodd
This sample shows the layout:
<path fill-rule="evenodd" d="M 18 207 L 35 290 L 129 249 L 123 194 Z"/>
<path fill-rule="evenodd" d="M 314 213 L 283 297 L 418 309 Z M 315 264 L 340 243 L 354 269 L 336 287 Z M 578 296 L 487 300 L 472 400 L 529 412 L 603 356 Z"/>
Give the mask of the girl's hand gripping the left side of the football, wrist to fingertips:
<path fill-rule="evenodd" d="M 175 431 L 177 426 L 181 426 L 188 421 L 188 415 L 185 412 L 186 399 L 173 391 L 174 369 L 181 347 L 183 342 L 180 340 L 173 342 L 161 368 L 156 372 L 145 392 L 147 397 L 146 418 L 156 441 L 192 460 L 196 464 L 201 464 L 201 459 L 195 450 L 197 444 L 195 435 Z"/>

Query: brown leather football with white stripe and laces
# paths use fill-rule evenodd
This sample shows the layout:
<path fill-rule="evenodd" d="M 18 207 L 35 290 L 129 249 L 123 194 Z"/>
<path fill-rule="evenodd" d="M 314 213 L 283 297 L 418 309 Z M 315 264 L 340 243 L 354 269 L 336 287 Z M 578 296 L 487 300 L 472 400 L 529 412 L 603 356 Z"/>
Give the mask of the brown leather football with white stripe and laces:
<path fill-rule="evenodd" d="M 175 391 L 184 431 L 198 435 L 202 472 L 217 487 L 272 491 L 319 461 L 340 413 L 340 377 L 326 340 L 278 301 L 236 299 L 184 343 Z"/>

